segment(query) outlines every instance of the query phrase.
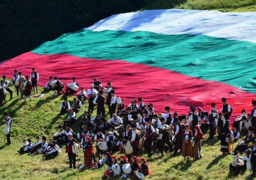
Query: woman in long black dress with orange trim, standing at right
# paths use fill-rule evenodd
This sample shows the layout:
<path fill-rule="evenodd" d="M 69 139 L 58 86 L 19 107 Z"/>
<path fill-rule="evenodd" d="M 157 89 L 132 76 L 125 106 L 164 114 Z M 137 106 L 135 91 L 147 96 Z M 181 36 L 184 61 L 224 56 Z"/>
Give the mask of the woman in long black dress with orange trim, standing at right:
<path fill-rule="evenodd" d="M 226 120 L 224 127 L 222 128 L 222 135 L 220 138 L 220 152 L 223 155 L 228 153 L 231 150 L 230 143 L 231 143 L 231 128 L 230 128 L 230 121 Z"/>

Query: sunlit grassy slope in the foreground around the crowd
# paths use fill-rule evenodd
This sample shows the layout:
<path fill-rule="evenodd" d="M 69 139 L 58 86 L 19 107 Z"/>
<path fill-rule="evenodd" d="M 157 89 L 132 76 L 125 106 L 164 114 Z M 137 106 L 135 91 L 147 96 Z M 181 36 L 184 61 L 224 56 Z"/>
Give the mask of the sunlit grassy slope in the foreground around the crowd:
<path fill-rule="evenodd" d="M 40 88 L 42 90 L 42 88 Z M 33 98 L 34 101 L 23 103 L 20 97 L 14 95 L 13 100 L 9 100 L 0 107 L 0 114 L 8 111 L 13 118 L 12 123 L 12 145 L 5 146 L 3 134 L 0 139 L 0 179 L 100 179 L 106 167 L 101 170 L 85 170 L 75 173 L 75 170 L 68 169 L 68 157 L 64 147 L 61 147 L 61 154 L 55 159 L 41 161 L 41 156 L 19 155 L 17 150 L 22 146 L 22 140 L 31 138 L 35 142 L 35 137 L 45 135 L 52 137 L 58 131 L 58 124 L 63 123 L 67 116 L 58 117 L 60 97 L 52 97 L 50 93 L 43 98 Z M 69 98 L 72 101 L 72 97 Z M 88 104 L 83 104 L 82 110 L 78 113 L 78 122 L 72 127 L 77 132 L 81 121 L 81 115 L 87 110 Z M 95 113 L 94 113 L 95 114 Z M 2 131 L 3 125 L 0 129 Z M 229 163 L 233 160 L 232 155 L 222 156 L 220 153 L 220 141 L 208 140 L 208 135 L 202 141 L 201 154 L 203 158 L 199 161 L 183 161 L 182 157 L 172 157 L 172 153 L 165 153 L 161 156 L 156 153 L 152 158 L 146 158 L 151 170 L 151 175 L 146 179 L 232 179 L 228 175 Z M 234 145 L 235 146 L 235 145 Z M 146 157 L 145 153 L 140 153 Z M 119 157 L 120 155 L 117 155 Z M 82 150 L 80 150 L 77 164 L 83 163 Z M 246 172 L 238 178 L 249 175 Z M 115 177 L 112 179 L 120 179 Z"/>

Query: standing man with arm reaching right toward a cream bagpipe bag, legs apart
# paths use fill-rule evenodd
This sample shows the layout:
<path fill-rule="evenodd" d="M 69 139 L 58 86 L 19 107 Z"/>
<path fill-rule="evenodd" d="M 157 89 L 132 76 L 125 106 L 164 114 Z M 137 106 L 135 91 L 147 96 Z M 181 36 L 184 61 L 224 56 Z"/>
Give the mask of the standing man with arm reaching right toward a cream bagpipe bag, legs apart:
<path fill-rule="evenodd" d="M 165 124 L 165 119 L 161 118 L 161 125 L 159 126 L 159 138 L 158 143 L 160 147 L 161 154 L 164 155 L 164 146 L 167 144 L 170 148 L 170 151 L 173 151 L 173 144 L 170 141 L 170 137 L 168 135 L 168 131 L 172 131 L 172 129 L 167 129 L 167 125 Z"/>

